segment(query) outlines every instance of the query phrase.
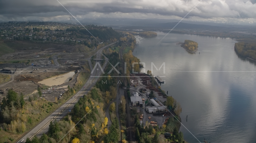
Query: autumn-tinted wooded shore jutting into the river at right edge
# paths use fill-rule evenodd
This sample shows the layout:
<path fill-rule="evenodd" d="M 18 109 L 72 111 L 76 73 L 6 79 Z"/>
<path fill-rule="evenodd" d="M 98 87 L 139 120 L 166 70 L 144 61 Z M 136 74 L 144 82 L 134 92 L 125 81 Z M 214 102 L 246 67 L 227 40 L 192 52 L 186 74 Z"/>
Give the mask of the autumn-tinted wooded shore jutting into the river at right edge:
<path fill-rule="evenodd" d="M 235 51 L 242 57 L 249 57 L 256 60 L 256 43 L 238 42 L 235 43 Z"/>

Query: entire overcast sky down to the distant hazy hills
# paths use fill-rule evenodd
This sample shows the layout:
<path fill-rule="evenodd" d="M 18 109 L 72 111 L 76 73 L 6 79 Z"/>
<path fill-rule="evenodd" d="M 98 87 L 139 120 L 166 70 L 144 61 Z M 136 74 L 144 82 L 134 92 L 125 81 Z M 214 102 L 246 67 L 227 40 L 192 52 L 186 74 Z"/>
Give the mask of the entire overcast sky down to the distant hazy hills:
<path fill-rule="evenodd" d="M 59 0 L 77 19 L 181 19 L 200 0 Z M 63 21 L 57 0 L 0 0 L 0 21 Z M 256 25 L 256 0 L 201 0 L 184 20 Z"/>

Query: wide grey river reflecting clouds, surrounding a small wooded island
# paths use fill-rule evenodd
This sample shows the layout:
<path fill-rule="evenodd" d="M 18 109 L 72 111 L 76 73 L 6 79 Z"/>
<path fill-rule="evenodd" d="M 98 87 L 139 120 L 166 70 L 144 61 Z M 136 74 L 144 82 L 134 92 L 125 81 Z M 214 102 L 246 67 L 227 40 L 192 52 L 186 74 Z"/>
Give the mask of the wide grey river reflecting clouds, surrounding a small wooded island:
<path fill-rule="evenodd" d="M 154 38 L 136 36 L 133 55 L 145 63 L 145 69 L 164 76 L 161 88 L 182 106 L 183 125 L 200 141 L 211 143 L 256 142 L 256 66 L 255 61 L 240 58 L 234 51 L 237 41 L 188 34 L 157 32 Z M 196 54 L 176 45 L 184 40 L 198 43 Z M 200 55 L 199 55 L 200 52 Z M 187 122 L 186 122 L 186 116 Z M 184 139 L 197 140 L 181 126 Z"/>

